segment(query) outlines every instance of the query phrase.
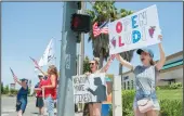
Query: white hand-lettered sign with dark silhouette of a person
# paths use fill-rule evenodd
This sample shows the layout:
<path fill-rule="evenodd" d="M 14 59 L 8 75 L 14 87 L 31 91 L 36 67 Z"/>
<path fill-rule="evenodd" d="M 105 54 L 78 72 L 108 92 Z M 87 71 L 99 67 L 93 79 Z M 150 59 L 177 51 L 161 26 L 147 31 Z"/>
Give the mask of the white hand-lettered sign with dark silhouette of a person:
<path fill-rule="evenodd" d="M 75 103 L 106 101 L 105 74 L 73 76 Z"/>

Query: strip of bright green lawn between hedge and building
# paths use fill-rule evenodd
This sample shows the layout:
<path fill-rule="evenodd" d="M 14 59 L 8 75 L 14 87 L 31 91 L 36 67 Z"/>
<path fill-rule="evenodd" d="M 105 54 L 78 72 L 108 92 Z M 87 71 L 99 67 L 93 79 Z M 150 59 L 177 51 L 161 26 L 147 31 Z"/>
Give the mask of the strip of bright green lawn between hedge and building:
<path fill-rule="evenodd" d="M 159 100 L 182 100 L 183 89 L 157 90 L 157 96 Z"/>

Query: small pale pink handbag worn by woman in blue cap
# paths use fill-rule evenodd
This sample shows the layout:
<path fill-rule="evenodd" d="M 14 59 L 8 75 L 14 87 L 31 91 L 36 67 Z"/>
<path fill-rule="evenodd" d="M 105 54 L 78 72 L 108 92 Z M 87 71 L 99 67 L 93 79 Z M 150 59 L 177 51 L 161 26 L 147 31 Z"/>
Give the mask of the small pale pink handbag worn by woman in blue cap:
<path fill-rule="evenodd" d="M 153 90 L 153 88 L 150 88 L 150 94 L 148 98 L 144 98 L 144 99 L 137 101 L 137 106 L 139 106 L 139 109 L 141 113 L 146 113 L 154 108 L 154 102 L 150 98 L 152 90 Z"/>

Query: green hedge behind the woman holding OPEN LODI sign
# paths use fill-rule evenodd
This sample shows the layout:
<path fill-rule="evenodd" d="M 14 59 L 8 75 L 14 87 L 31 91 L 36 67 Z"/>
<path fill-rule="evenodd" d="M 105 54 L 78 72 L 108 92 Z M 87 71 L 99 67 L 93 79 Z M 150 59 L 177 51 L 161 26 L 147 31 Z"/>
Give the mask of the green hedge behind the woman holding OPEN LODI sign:
<path fill-rule="evenodd" d="M 133 114 L 133 100 L 134 90 L 122 90 L 122 115 L 134 116 Z M 182 100 L 160 100 L 160 116 L 182 116 Z M 110 109 L 113 116 L 113 111 Z"/>

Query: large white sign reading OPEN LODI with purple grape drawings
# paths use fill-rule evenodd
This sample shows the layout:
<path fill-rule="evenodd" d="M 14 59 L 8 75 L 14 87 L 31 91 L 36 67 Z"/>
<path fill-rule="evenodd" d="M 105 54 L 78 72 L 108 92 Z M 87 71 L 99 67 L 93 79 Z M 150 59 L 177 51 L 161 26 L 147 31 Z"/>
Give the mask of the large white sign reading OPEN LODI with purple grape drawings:
<path fill-rule="evenodd" d="M 109 54 L 159 43 L 160 27 L 157 7 L 152 5 L 117 20 L 109 27 Z"/>

